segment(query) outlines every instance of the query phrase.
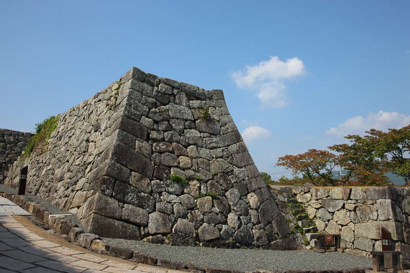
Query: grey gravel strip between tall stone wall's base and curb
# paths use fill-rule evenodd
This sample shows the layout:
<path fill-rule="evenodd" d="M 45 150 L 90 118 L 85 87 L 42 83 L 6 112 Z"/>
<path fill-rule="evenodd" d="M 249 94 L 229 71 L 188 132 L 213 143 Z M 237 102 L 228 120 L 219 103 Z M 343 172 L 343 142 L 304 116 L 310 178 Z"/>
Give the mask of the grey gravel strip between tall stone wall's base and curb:
<path fill-rule="evenodd" d="M 16 194 L 17 190 L 0 184 L 0 192 Z M 63 209 L 35 196 L 26 196 L 40 203 L 53 214 L 67 214 Z M 73 222 L 79 220 L 71 216 Z M 150 244 L 141 241 L 104 238 L 109 245 L 130 248 L 155 258 L 203 267 L 236 269 L 241 271 L 264 270 L 341 270 L 372 266 L 372 259 L 347 253 L 316 253 L 310 250 L 274 251 L 253 249 L 221 249 Z"/>

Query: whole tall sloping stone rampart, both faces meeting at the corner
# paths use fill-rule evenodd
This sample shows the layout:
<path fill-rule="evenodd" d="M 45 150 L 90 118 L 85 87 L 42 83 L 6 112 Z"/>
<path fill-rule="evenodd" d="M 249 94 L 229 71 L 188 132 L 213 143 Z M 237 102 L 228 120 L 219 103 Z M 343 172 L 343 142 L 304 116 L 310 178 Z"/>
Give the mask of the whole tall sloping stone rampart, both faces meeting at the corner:
<path fill-rule="evenodd" d="M 30 162 L 31 192 L 103 237 L 297 248 L 221 90 L 137 68 L 118 86 L 60 115 L 49 152 Z"/>

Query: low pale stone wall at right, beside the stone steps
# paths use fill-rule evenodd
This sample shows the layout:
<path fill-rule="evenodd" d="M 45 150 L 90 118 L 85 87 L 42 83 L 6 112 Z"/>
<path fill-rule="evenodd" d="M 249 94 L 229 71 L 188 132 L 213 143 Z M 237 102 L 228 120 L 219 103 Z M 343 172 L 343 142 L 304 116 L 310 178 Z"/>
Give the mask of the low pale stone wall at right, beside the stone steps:
<path fill-rule="evenodd" d="M 340 234 L 346 253 L 371 257 L 371 251 L 381 251 L 381 227 L 386 228 L 392 234 L 392 250 L 401 251 L 403 268 L 410 268 L 410 187 L 271 186 L 271 190 L 295 194 L 317 232 Z M 305 234 L 312 246 L 315 235 Z"/>

